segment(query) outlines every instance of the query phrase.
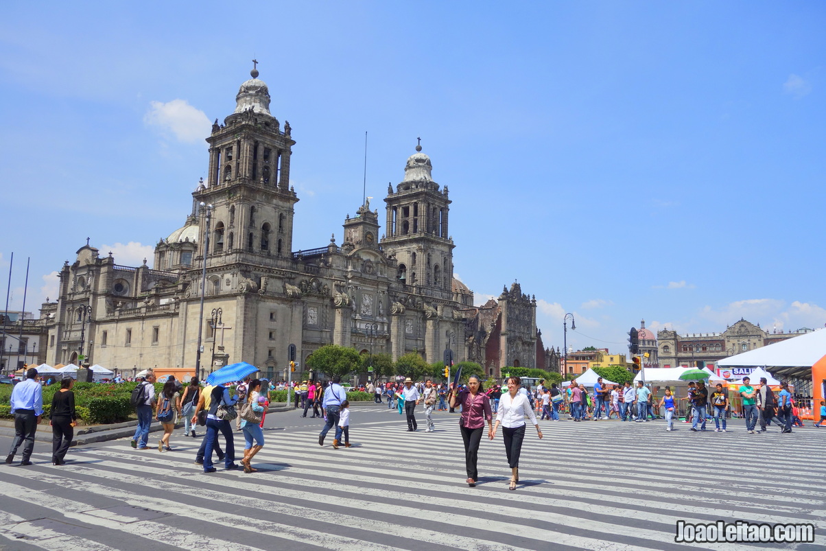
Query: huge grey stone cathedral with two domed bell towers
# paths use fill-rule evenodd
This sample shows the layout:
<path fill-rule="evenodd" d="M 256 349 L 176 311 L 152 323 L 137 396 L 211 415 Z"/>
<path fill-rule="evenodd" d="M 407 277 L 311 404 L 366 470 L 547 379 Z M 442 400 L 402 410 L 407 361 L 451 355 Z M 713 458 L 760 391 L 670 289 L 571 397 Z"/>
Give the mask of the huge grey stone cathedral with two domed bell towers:
<path fill-rule="evenodd" d="M 295 249 L 296 142 L 269 111 L 258 71 L 251 76 L 235 111 L 213 124 L 207 180 L 183 227 L 155 246 L 153 268 L 146 259 L 116 264 L 88 242 L 64 264 L 59 299 L 41 310 L 47 363 L 81 354 L 126 375 L 198 364 L 204 376 L 243 360 L 282 378 L 290 344 L 301 364 L 340 344 L 393 359 L 472 359 L 493 376 L 506 365 L 543 367 L 535 299 L 516 285 L 500 305 L 475 308 L 453 278 L 448 187 L 434 182 L 420 145 L 387 189 L 383 235 L 367 200 L 344 219 L 340 245 L 333 234 L 325 246 Z"/>

